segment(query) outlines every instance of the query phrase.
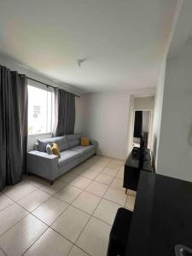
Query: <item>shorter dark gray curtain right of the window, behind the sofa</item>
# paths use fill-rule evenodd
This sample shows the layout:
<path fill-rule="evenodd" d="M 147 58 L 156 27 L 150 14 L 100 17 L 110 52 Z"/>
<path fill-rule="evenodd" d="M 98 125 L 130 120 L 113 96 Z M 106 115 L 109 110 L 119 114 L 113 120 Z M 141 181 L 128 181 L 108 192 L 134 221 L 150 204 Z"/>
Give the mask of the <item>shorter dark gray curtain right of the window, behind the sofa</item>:
<path fill-rule="evenodd" d="M 55 90 L 54 136 L 74 133 L 75 96 L 66 90 Z"/>

